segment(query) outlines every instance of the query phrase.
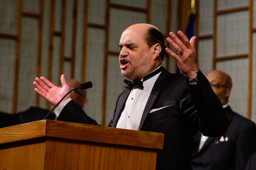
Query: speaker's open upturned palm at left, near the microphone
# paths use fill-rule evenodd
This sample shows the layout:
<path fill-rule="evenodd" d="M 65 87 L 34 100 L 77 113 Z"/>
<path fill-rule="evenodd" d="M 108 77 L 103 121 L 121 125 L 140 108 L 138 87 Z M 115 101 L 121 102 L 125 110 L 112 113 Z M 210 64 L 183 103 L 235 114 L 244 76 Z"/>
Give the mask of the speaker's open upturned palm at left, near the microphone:
<path fill-rule="evenodd" d="M 45 77 L 40 77 L 40 79 L 37 77 L 33 82 L 33 85 L 35 86 L 34 90 L 43 98 L 48 100 L 50 103 L 56 105 L 59 102 L 59 100 L 69 91 L 69 86 L 66 83 L 64 74 L 61 75 L 60 81 L 62 87 L 55 86 Z M 68 98 L 69 95 L 62 102 L 64 102 Z"/>

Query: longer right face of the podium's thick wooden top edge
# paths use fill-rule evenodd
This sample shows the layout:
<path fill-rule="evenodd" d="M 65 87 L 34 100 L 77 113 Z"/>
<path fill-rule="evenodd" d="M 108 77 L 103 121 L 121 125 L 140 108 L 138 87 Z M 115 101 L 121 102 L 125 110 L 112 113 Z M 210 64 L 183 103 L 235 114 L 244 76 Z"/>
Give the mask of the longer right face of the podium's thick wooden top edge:
<path fill-rule="evenodd" d="M 160 133 L 110 128 L 81 123 L 47 120 L 45 135 L 49 137 L 162 149 Z M 65 129 L 65 131 L 63 131 Z M 63 133 L 59 133 L 59 132 Z M 118 140 L 116 140 L 118 139 Z"/>

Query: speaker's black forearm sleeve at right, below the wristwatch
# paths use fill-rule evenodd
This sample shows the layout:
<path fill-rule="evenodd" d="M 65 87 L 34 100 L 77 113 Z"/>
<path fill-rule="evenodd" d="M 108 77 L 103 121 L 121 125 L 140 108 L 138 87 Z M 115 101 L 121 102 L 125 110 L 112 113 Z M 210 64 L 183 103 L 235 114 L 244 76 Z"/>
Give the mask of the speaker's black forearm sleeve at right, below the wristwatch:
<path fill-rule="evenodd" d="M 189 93 L 197 110 L 195 123 L 204 136 L 222 136 L 228 128 L 228 118 L 221 101 L 213 92 L 207 78 L 201 71 L 197 73 L 198 83 L 188 85 Z"/>

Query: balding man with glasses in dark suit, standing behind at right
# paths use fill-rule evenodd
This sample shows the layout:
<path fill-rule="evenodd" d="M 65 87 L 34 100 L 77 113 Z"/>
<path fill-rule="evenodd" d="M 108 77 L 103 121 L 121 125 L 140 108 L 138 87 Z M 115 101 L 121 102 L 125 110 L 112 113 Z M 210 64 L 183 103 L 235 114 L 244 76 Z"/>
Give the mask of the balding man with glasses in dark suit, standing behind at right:
<path fill-rule="evenodd" d="M 222 71 L 207 74 L 213 91 L 221 100 L 229 118 L 227 132 L 219 137 L 206 137 L 198 132 L 194 141 L 194 170 L 244 170 L 249 156 L 256 151 L 256 126 L 232 111 L 228 105 L 232 81 Z"/>

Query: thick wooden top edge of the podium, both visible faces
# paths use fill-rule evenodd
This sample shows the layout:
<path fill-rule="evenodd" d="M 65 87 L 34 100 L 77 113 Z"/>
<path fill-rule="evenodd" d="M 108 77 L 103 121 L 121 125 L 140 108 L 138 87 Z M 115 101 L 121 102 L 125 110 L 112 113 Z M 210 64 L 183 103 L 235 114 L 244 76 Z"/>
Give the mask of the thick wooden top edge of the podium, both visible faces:
<path fill-rule="evenodd" d="M 151 149 L 163 148 L 162 133 L 82 123 L 40 120 L 0 129 L 0 145 L 39 137 L 55 137 Z"/>

